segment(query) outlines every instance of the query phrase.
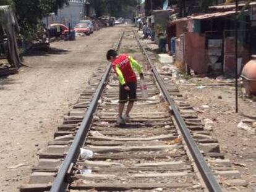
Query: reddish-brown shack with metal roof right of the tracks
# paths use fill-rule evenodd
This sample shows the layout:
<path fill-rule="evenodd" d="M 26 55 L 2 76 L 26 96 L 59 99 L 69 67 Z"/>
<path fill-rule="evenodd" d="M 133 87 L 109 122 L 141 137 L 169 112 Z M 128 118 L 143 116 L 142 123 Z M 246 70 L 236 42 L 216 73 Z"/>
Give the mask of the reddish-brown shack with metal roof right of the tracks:
<path fill-rule="evenodd" d="M 239 4 L 238 70 L 256 53 L 256 2 L 241 13 Z M 241 14 L 240 14 L 241 13 Z M 211 6 L 207 14 L 192 14 L 167 25 L 167 42 L 176 64 L 196 74 L 233 76 L 235 71 L 234 4 Z"/>

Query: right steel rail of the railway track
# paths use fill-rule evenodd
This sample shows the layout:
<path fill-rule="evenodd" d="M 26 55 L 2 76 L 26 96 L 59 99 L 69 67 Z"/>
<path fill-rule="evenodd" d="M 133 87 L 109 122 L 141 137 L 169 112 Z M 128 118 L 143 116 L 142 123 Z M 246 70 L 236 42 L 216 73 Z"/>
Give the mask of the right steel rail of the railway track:
<path fill-rule="evenodd" d="M 210 192 L 221 192 L 221 186 L 216 181 L 213 172 L 211 172 L 211 169 L 208 167 L 207 162 L 205 161 L 205 158 L 203 157 L 202 153 L 200 152 L 197 143 L 195 143 L 195 140 L 193 139 L 192 135 L 190 134 L 189 129 L 187 128 L 186 123 L 184 122 L 184 119 L 182 118 L 181 114 L 179 113 L 175 101 L 173 98 L 171 98 L 170 94 L 168 93 L 168 90 L 165 88 L 163 80 L 161 79 L 160 75 L 158 74 L 155 66 L 151 62 L 150 57 L 147 54 L 147 51 L 145 48 L 143 48 L 142 44 L 140 43 L 139 38 L 137 35 L 134 35 L 135 38 L 140 46 L 140 48 L 143 50 L 143 53 L 145 54 L 148 63 L 150 64 L 151 70 L 153 72 L 153 75 L 155 76 L 155 79 L 160 86 L 160 89 L 163 93 L 164 98 L 169 103 L 169 106 L 171 106 L 171 109 L 173 110 L 174 118 L 176 120 L 176 123 L 179 127 L 179 130 L 181 130 L 181 133 L 184 137 L 184 140 L 187 144 L 187 147 L 189 148 L 190 153 L 192 154 L 192 157 L 194 158 L 195 164 L 197 165 L 197 168 L 202 175 L 203 181 L 205 182 L 205 185 L 207 186 L 207 189 Z"/>

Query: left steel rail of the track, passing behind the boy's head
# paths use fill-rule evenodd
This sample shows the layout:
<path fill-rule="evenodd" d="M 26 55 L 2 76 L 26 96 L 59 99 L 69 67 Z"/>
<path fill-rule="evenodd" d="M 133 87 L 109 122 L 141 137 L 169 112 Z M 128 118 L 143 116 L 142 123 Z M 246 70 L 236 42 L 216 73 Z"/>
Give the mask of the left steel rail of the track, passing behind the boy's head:
<path fill-rule="evenodd" d="M 115 49 L 118 50 L 124 36 L 124 31 L 116 44 Z M 93 96 L 92 101 L 90 102 L 90 106 L 83 118 L 83 121 L 75 135 L 74 141 L 70 146 L 69 152 L 59 169 L 58 175 L 51 186 L 50 192 L 64 192 L 69 187 L 70 178 L 69 178 L 69 171 L 72 169 L 73 165 L 77 162 L 80 154 L 80 148 L 83 146 L 85 139 L 87 137 L 87 133 L 90 130 L 90 125 L 93 120 L 93 114 L 96 111 L 96 107 L 98 106 L 98 100 L 100 99 L 101 94 L 105 88 L 106 82 L 108 81 L 109 73 L 111 71 L 111 64 L 108 64 L 106 72 L 103 75 L 103 78 L 100 81 L 100 84 Z"/>

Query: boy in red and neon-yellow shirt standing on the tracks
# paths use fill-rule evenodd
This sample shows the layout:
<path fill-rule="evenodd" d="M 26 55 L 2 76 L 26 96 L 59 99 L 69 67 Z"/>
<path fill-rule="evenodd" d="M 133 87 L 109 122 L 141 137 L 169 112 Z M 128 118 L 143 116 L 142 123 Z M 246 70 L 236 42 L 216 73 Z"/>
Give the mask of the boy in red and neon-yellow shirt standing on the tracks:
<path fill-rule="evenodd" d="M 130 111 L 134 106 L 134 102 L 137 101 L 137 77 L 134 69 L 137 70 L 140 78 L 143 79 L 142 66 L 132 57 L 126 54 L 118 55 L 113 49 L 107 52 L 106 57 L 112 63 L 112 67 L 119 79 L 119 117 L 117 123 L 124 124 L 129 121 Z M 127 101 L 129 101 L 127 111 L 123 116 L 122 113 Z"/>

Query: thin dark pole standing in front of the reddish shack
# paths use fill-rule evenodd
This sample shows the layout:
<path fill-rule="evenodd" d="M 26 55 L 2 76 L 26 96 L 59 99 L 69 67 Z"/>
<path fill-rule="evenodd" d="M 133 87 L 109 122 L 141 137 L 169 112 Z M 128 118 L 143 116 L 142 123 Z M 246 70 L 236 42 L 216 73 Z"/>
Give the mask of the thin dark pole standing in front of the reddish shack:
<path fill-rule="evenodd" d="M 236 66 L 235 66 L 235 70 L 236 70 L 236 113 L 238 113 L 238 64 L 237 64 L 237 59 L 238 59 L 238 0 L 236 0 L 236 25 L 235 25 L 235 52 L 236 52 Z"/>

